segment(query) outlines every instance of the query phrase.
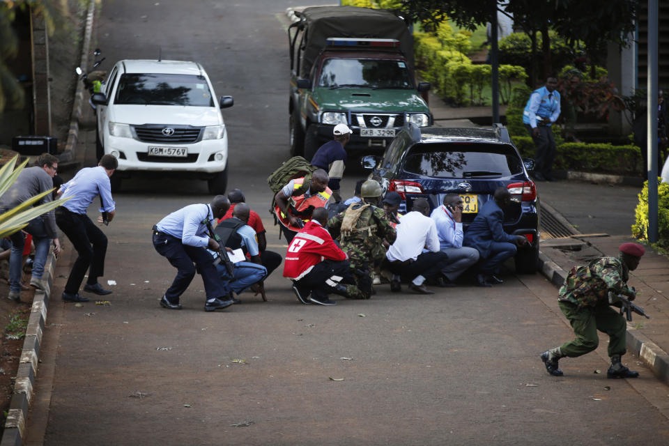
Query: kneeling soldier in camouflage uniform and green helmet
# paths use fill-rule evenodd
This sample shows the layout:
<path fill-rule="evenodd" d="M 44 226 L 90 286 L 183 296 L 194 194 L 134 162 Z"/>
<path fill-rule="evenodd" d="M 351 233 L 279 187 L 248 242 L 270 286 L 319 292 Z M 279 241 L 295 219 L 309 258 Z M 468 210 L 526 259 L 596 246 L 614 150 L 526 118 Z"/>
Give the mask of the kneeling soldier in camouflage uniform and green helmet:
<path fill-rule="evenodd" d="M 339 285 L 339 292 L 347 298 L 369 299 L 374 280 L 374 262 L 383 260 L 383 241 L 393 243 L 397 238 L 394 227 L 385 217 L 378 203 L 381 186 L 375 180 L 367 180 L 360 188 L 362 201 L 348 206 L 344 212 L 328 221 L 332 237 L 341 243 L 348 254 L 351 275 L 355 284 Z"/>

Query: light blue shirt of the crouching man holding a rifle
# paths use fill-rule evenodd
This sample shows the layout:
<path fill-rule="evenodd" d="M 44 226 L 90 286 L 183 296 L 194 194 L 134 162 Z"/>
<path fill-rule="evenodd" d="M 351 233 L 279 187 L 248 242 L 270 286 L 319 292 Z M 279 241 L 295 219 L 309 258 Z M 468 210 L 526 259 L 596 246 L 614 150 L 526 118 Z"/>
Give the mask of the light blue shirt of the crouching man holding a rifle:
<path fill-rule="evenodd" d="M 214 215 L 208 204 L 191 204 L 185 208 L 175 210 L 164 217 L 155 226 L 158 231 L 178 238 L 188 246 L 207 247 L 209 232 L 203 220 L 209 220 L 213 226 Z"/>

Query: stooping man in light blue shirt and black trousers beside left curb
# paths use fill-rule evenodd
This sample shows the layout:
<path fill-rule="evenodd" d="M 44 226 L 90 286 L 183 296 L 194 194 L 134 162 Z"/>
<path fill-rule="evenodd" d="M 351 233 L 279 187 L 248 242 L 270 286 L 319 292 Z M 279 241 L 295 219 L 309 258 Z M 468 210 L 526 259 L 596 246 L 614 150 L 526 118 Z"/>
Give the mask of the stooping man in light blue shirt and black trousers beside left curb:
<path fill-rule="evenodd" d="M 114 174 L 116 167 L 118 167 L 116 158 L 112 155 L 104 155 L 100 158 L 97 167 L 81 169 L 75 178 L 63 184 L 58 191 L 61 198 L 71 198 L 63 206 L 56 208 L 56 224 L 68 236 L 79 254 L 72 265 L 68 283 L 63 291 L 62 298 L 66 302 L 87 302 L 89 300 L 79 295 L 79 286 L 84 281 L 87 269 L 89 279 L 84 285 L 84 291 L 98 295 L 112 293 L 112 291 L 102 289 L 102 286 L 98 284 L 98 277 L 105 275 L 107 236 L 91 222 L 86 215 L 86 210 L 93 199 L 100 195 L 102 205 L 100 212 L 106 213 L 107 222 L 114 219 L 116 204 L 112 199 L 109 177 Z M 98 217 L 98 223 L 102 222 L 102 216 Z"/>

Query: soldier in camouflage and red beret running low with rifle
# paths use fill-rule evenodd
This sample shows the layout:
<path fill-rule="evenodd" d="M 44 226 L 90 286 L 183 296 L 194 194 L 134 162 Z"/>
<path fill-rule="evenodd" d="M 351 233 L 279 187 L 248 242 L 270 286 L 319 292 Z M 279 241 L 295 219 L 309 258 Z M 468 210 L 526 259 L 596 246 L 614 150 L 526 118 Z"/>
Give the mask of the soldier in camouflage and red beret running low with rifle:
<path fill-rule="evenodd" d="M 641 245 L 624 243 L 620 245 L 620 256 L 617 258 L 602 257 L 587 266 L 571 268 L 560 288 L 557 305 L 569 319 L 576 339 L 541 353 L 541 360 L 549 374 L 562 376 L 562 370 L 557 367 L 557 360 L 561 357 L 578 357 L 597 348 L 599 330 L 610 337 L 608 355 L 611 365 L 606 376 L 639 376 L 637 371 L 631 371 L 620 362 L 620 357 L 626 352 L 627 323 L 622 315 L 609 306 L 608 292 L 625 295 L 629 300 L 636 297 L 634 289 L 627 286 L 627 280 L 629 271 L 636 269 L 644 252 Z"/>

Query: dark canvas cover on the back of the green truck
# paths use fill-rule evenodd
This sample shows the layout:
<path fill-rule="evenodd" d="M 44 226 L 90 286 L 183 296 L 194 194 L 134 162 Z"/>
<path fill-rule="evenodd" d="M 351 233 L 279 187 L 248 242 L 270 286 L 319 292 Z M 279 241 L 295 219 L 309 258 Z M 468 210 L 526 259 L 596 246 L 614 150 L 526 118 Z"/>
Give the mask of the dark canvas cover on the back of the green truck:
<path fill-rule="evenodd" d="M 316 6 L 306 8 L 298 17 L 306 20 L 302 57 L 302 75 L 312 69 L 328 38 L 384 38 L 399 40 L 399 49 L 413 73 L 413 38 L 403 19 L 385 9 L 356 6 Z"/>

